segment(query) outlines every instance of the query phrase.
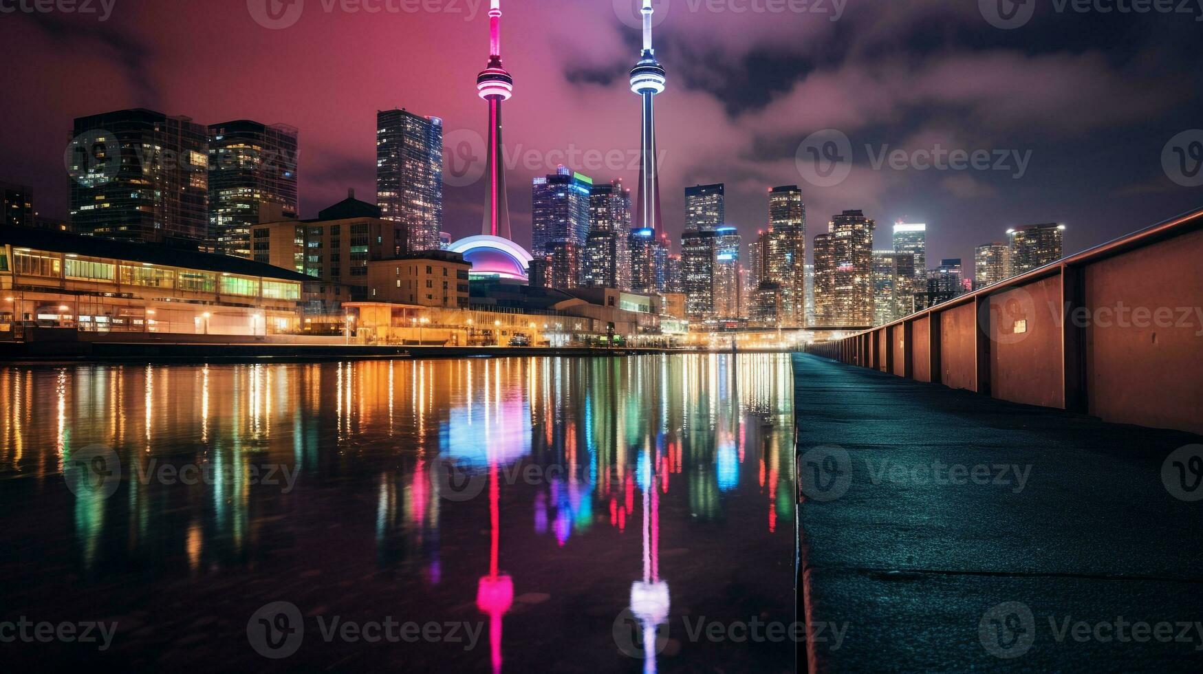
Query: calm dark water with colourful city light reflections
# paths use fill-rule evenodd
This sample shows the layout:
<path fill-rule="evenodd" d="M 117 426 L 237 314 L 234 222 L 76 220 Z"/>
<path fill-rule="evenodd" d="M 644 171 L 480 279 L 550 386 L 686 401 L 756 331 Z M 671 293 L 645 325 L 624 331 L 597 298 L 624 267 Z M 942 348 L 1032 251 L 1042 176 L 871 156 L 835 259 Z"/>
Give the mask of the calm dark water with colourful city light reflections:
<path fill-rule="evenodd" d="M 0 656 L 792 670 L 697 633 L 794 620 L 792 395 L 752 354 L 0 368 L 0 621 L 117 623 Z"/>

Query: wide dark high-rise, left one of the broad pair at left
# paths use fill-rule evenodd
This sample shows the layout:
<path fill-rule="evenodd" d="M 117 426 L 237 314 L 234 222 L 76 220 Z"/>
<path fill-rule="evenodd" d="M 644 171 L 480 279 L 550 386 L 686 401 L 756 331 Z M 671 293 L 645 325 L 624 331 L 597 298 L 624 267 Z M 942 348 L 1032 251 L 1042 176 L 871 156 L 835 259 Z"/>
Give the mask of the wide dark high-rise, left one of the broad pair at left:
<path fill-rule="evenodd" d="M 209 240 L 208 130 L 188 117 L 119 110 L 75 120 L 71 224 L 138 242 Z"/>

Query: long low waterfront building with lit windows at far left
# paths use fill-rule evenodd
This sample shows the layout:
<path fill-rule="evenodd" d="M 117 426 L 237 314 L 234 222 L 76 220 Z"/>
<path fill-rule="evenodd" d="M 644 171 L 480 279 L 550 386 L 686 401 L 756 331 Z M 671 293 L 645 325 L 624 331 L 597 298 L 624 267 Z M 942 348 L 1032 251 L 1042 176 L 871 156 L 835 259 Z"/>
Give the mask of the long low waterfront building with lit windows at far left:
<path fill-rule="evenodd" d="M 307 277 L 161 244 L 0 227 L 0 339 L 296 332 Z"/>

